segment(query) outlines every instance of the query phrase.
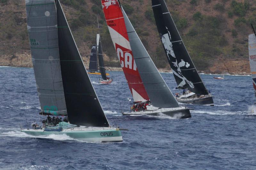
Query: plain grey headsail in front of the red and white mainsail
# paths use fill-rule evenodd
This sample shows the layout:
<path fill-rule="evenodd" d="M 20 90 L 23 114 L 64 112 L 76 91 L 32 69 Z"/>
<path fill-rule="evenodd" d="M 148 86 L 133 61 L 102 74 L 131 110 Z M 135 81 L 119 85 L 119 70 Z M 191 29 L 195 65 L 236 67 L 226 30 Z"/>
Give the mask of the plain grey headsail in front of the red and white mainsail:
<path fill-rule="evenodd" d="M 137 69 L 153 106 L 180 107 L 123 10 L 124 21 Z"/>

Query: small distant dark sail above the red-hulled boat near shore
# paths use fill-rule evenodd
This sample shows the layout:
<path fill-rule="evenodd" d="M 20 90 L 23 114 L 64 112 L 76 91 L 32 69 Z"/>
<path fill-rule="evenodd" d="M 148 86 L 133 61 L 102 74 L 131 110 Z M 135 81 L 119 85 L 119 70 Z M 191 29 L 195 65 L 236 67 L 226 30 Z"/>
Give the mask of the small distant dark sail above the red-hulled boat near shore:
<path fill-rule="evenodd" d="M 98 50 L 98 59 L 99 59 L 99 66 L 100 66 L 100 74 L 103 80 L 107 80 L 104 60 L 103 60 L 103 52 L 102 52 L 102 46 L 101 46 L 101 39 L 100 34 L 97 34 L 97 50 Z"/>

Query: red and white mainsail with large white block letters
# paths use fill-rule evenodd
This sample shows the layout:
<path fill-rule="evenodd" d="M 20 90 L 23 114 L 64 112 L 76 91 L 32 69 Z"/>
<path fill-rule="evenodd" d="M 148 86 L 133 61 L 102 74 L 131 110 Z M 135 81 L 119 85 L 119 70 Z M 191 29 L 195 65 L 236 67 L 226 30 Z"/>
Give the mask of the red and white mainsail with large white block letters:
<path fill-rule="evenodd" d="M 134 62 L 123 12 L 116 0 L 101 0 L 108 30 L 135 102 L 149 100 Z"/>

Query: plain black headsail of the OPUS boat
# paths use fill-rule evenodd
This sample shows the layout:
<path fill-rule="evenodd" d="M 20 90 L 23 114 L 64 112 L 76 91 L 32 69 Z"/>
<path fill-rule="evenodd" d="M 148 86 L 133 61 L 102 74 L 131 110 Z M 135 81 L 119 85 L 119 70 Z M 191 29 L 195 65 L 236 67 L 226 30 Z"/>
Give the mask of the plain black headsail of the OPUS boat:
<path fill-rule="evenodd" d="M 76 125 L 108 127 L 108 120 L 86 72 L 60 2 L 59 0 L 55 0 L 55 2 L 60 67 L 68 121 Z"/>

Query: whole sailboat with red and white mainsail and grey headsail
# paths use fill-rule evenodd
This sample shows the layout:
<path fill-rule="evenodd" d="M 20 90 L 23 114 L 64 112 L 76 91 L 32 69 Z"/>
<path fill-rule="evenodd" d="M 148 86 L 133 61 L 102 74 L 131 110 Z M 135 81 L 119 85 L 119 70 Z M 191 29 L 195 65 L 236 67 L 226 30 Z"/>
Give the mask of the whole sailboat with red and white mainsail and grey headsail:
<path fill-rule="evenodd" d="M 140 96 L 140 100 L 146 100 L 145 103 L 140 102 L 139 105 L 136 105 L 140 109 L 142 108 L 141 111 L 135 110 L 129 113 L 123 113 L 123 115 L 156 116 L 164 114 L 180 118 L 191 117 L 189 109 L 180 107 L 164 82 L 164 79 L 140 41 L 124 9 L 120 6 L 119 1 L 106 2 L 102 0 L 101 2 L 108 29 L 128 85 L 130 88 L 131 86 L 134 87 L 134 89 L 130 89 L 133 98 L 136 99 L 136 97 Z M 132 81 L 134 81 L 136 86 L 132 84 Z M 140 88 L 136 88 L 137 85 L 140 85 Z M 141 93 L 136 92 L 137 89 Z M 140 94 L 144 94 L 144 97 Z"/>

